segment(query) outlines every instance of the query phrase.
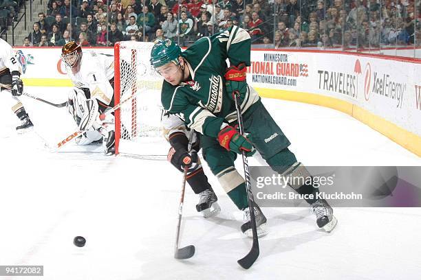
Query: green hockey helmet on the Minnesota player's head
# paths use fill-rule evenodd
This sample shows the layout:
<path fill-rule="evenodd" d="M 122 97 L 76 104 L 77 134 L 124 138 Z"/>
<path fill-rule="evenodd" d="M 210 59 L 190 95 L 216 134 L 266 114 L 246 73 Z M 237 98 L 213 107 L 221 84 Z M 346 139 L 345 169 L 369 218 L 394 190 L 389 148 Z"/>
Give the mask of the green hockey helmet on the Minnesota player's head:
<path fill-rule="evenodd" d="M 156 40 L 151 49 L 151 65 L 154 68 L 166 65 L 168 62 L 174 62 L 179 65 L 178 57 L 181 54 L 181 48 L 172 40 Z"/>

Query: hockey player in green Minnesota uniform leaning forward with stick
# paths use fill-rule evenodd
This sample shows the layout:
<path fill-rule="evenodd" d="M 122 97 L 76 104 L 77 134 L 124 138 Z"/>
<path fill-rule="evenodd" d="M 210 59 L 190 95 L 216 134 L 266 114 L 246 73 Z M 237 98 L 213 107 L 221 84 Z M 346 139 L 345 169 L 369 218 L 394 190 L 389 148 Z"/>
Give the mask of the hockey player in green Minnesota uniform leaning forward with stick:
<path fill-rule="evenodd" d="M 244 210 L 248 222 L 241 231 L 252 236 L 244 179 L 234 167 L 242 150 L 250 156 L 256 148 L 273 170 L 284 176 L 311 176 L 288 149 L 290 141 L 246 82 L 250 66 L 250 36 L 237 26 L 197 40 L 184 52 L 171 40 L 158 40 L 151 49 L 151 65 L 162 75 L 161 102 L 169 113 L 184 119 L 188 128 L 199 132 L 202 151 L 210 170 L 217 176 L 235 205 Z M 227 67 L 226 60 L 230 67 Z M 241 97 L 241 114 L 247 137 L 237 132 L 233 92 Z M 291 180 L 290 187 L 302 195 L 316 194 L 317 187 Z M 305 196 L 308 197 L 308 196 Z M 325 200 L 306 199 L 325 231 L 336 226 L 333 210 Z M 265 235 L 266 218 L 255 205 L 258 235 Z"/>

